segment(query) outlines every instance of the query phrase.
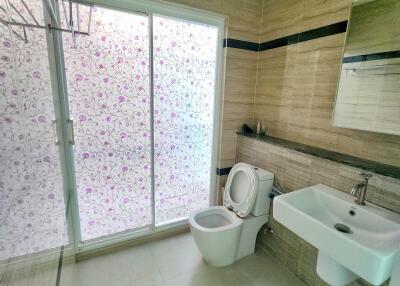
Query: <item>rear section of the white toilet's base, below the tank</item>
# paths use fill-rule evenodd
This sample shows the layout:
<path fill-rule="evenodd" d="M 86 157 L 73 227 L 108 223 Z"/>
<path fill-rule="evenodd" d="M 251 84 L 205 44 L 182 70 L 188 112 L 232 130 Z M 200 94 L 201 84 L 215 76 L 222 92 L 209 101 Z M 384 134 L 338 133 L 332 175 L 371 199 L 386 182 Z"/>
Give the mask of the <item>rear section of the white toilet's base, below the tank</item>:
<path fill-rule="evenodd" d="M 258 231 L 264 224 L 267 223 L 268 215 L 249 215 L 245 218 L 242 218 L 242 220 L 242 231 L 240 234 L 235 261 L 254 252 Z"/>

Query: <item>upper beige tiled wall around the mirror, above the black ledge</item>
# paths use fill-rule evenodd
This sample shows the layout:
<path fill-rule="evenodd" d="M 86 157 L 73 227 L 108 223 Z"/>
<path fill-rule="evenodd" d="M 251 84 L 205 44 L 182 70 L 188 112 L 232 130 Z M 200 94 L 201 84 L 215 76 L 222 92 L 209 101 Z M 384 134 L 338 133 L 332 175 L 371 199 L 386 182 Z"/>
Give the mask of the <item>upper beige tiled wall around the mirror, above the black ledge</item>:
<path fill-rule="evenodd" d="M 350 0 L 265 0 L 261 42 L 347 20 Z M 255 121 L 271 136 L 400 166 L 400 136 L 331 124 L 345 34 L 260 52 Z"/>

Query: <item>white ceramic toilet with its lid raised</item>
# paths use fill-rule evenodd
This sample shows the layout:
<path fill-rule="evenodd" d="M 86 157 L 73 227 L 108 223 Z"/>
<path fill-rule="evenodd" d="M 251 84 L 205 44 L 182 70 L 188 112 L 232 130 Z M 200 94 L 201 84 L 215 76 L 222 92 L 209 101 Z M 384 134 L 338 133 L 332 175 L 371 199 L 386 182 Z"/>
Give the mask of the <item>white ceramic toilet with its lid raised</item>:
<path fill-rule="evenodd" d="M 204 259 L 226 266 L 254 252 L 257 233 L 268 221 L 274 174 L 236 164 L 224 190 L 224 206 L 192 213 L 190 230 Z"/>

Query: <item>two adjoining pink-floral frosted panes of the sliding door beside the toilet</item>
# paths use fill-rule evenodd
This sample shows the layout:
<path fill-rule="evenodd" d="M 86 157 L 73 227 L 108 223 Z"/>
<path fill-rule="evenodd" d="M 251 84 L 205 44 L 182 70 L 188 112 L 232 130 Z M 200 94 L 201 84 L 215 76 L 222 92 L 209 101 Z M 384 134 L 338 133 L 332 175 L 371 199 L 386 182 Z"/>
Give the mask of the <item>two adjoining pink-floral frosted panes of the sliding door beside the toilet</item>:
<path fill-rule="evenodd" d="M 210 204 L 217 43 L 216 26 L 100 7 L 64 35 L 81 241 Z"/>

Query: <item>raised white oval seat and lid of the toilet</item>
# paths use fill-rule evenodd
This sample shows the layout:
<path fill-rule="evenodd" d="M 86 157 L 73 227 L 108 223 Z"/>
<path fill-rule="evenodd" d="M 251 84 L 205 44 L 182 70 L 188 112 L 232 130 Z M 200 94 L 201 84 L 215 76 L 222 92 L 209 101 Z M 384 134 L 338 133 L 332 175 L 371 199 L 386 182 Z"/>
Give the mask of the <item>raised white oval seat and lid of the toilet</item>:
<path fill-rule="evenodd" d="M 224 205 L 240 217 L 246 217 L 252 210 L 256 199 L 258 181 L 254 167 L 238 163 L 229 172 L 224 190 Z"/>

